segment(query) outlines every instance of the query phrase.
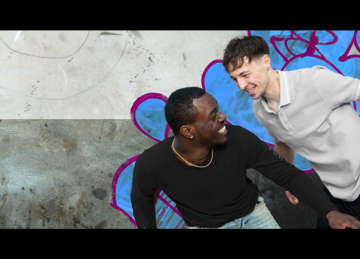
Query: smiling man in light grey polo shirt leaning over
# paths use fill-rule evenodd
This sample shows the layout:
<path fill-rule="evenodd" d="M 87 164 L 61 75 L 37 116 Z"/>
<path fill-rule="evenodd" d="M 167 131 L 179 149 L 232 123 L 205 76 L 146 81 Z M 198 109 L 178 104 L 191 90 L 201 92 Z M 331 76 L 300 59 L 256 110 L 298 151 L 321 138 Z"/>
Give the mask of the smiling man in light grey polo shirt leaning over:
<path fill-rule="evenodd" d="M 274 70 L 259 36 L 232 39 L 223 64 L 254 100 L 254 115 L 274 139 L 275 150 L 291 163 L 294 152 L 307 158 L 338 210 L 360 220 L 360 118 L 350 105 L 360 101 L 360 80 L 324 66 Z M 286 196 L 299 202 L 289 191 Z M 317 227 L 329 228 L 322 215 Z"/>

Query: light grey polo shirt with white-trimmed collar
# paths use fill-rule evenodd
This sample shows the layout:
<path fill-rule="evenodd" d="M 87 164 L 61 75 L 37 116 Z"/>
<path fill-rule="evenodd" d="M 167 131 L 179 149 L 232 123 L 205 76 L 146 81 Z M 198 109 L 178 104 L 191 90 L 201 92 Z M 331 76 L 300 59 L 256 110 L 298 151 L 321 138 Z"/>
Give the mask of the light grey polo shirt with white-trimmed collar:
<path fill-rule="evenodd" d="M 350 105 L 360 96 L 360 80 L 324 66 L 276 70 L 279 110 L 261 97 L 253 112 L 275 142 L 286 143 L 307 158 L 321 181 L 338 199 L 360 194 L 360 117 Z"/>

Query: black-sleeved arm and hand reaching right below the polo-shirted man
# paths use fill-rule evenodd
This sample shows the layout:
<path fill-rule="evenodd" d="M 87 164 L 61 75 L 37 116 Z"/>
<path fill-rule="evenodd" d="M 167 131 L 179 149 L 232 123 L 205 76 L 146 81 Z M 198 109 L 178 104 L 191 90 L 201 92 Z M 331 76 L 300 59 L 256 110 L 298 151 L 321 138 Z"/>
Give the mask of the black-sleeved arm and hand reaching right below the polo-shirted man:
<path fill-rule="evenodd" d="M 337 211 L 329 198 L 300 169 L 286 162 L 253 133 L 248 133 L 242 145 L 248 160 L 247 168 L 258 170 L 266 178 L 292 192 L 320 215 L 326 216 L 332 228 L 360 227 L 360 221 Z"/>

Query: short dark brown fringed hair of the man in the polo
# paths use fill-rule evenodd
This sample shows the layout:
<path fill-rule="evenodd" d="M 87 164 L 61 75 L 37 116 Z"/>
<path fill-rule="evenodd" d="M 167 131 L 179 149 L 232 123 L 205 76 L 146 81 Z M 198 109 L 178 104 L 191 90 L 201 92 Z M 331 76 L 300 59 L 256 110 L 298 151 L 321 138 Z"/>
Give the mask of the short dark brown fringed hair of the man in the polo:
<path fill-rule="evenodd" d="M 260 36 L 243 36 L 232 39 L 224 51 L 223 65 L 229 73 L 229 64 L 234 68 L 241 67 L 244 64 L 244 58 L 249 62 L 262 55 L 269 55 L 269 46 L 264 38 Z"/>

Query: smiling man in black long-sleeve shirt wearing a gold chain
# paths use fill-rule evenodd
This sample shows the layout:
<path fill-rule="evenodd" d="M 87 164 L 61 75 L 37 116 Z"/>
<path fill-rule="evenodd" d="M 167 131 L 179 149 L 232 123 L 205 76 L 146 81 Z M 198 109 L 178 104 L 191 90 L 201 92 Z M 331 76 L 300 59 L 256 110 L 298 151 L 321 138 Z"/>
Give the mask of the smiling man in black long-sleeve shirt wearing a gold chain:
<path fill-rule="evenodd" d="M 131 204 L 138 228 L 157 227 L 158 188 L 176 203 L 188 228 L 279 228 L 247 168 L 290 190 L 331 227 L 360 227 L 253 133 L 226 125 L 217 101 L 201 88 L 172 93 L 165 116 L 175 136 L 145 150 L 133 171 Z"/>

